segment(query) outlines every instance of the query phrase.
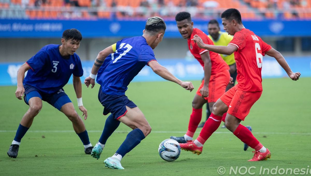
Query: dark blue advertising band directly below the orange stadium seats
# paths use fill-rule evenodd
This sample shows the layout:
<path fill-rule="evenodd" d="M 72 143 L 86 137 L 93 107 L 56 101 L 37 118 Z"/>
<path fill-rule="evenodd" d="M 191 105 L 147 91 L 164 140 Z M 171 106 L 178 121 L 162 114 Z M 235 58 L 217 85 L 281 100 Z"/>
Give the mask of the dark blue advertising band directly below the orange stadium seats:
<path fill-rule="evenodd" d="M 218 20 L 221 24 L 221 20 Z M 0 20 L 0 38 L 59 38 L 65 29 L 76 28 L 85 38 L 132 37 L 142 35 L 144 20 Z M 207 33 L 206 20 L 194 20 L 194 27 Z M 244 20 L 246 28 L 265 36 L 311 36 L 310 20 Z M 165 37 L 181 38 L 176 22 L 166 21 Z M 222 26 L 220 26 L 222 29 Z"/>

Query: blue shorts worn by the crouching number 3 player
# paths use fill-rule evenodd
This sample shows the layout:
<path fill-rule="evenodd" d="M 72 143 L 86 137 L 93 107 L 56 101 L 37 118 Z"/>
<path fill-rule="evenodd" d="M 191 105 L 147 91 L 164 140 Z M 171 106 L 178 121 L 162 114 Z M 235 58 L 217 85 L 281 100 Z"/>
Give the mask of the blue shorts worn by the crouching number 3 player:
<path fill-rule="evenodd" d="M 41 100 L 48 102 L 50 105 L 54 106 L 59 111 L 64 104 L 71 103 L 71 100 L 69 99 L 68 95 L 64 92 L 63 88 L 53 94 L 42 93 L 39 89 L 30 86 L 28 84 L 25 84 L 24 88 L 25 88 L 24 101 L 27 105 L 29 105 L 28 101 L 32 97 L 39 97 Z"/>

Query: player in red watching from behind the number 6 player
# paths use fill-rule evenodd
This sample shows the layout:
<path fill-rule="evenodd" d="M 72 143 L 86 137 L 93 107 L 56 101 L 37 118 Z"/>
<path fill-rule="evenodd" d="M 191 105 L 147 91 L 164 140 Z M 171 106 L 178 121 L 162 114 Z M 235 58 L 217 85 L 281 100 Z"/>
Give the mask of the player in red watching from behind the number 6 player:
<path fill-rule="evenodd" d="M 182 137 L 170 137 L 179 143 L 186 143 L 187 140 L 193 139 L 193 134 L 201 121 L 202 106 L 208 102 L 211 110 L 217 99 L 225 93 L 226 87 L 230 81 L 230 73 L 229 66 L 219 54 L 208 51 L 207 49 L 202 49 L 191 40 L 194 35 L 198 35 L 205 43 L 213 45 L 211 39 L 204 34 L 204 32 L 200 29 L 193 28 L 190 13 L 180 12 L 176 15 L 175 20 L 180 34 L 183 38 L 188 40 L 190 52 L 204 68 L 204 80 L 202 80 L 202 84 L 193 98 L 193 111 L 190 115 L 188 131 Z"/>

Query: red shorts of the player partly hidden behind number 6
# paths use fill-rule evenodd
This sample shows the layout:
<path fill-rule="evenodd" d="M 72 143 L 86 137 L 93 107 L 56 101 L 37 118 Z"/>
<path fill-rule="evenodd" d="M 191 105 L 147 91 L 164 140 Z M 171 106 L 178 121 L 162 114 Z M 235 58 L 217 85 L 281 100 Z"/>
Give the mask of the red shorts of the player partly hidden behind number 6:
<path fill-rule="evenodd" d="M 222 94 L 226 92 L 226 87 L 230 81 L 230 73 L 229 70 L 224 70 L 222 72 L 211 75 L 210 83 L 208 84 L 208 97 L 204 99 L 208 102 L 216 102 Z M 204 80 L 200 87 L 197 89 L 197 95 L 200 97 L 202 94 L 200 93 L 201 88 L 204 85 Z"/>

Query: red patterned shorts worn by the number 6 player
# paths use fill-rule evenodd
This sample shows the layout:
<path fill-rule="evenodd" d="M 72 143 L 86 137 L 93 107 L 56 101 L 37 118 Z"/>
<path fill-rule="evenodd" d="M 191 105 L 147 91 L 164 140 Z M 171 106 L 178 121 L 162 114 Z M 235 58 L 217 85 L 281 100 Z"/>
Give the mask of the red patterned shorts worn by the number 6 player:
<path fill-rule="evenodd" d="M 220 100 L 229 107 L 228 114 L 244 120 L 253 104 L 260 98 L 262 91 L 245 92 L 236 90 L 237 87 L 238 84 L 230 88 L 220 97 Z"/>

